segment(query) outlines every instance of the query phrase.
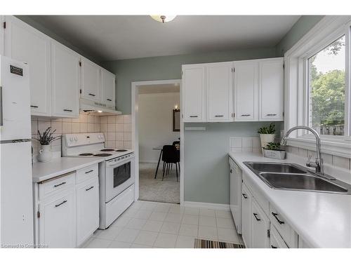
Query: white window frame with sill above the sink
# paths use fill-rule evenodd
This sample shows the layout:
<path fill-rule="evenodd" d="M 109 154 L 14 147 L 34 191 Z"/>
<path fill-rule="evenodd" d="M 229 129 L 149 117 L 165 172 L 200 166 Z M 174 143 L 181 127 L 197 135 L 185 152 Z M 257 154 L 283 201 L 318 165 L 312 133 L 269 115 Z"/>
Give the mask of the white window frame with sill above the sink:
<path fill-rule="evenodd" d="M 284 54 L 284 130 L 308 126 L 307 58 L 323 50 L 345 34 L 345 135 L 321 135 L 322 152 L 351 158 L 351 80 L 350 80 L 351 15 L 326 15 Z M 315 151 L 313 135 L 296 130 L 287 145 Z"/>

